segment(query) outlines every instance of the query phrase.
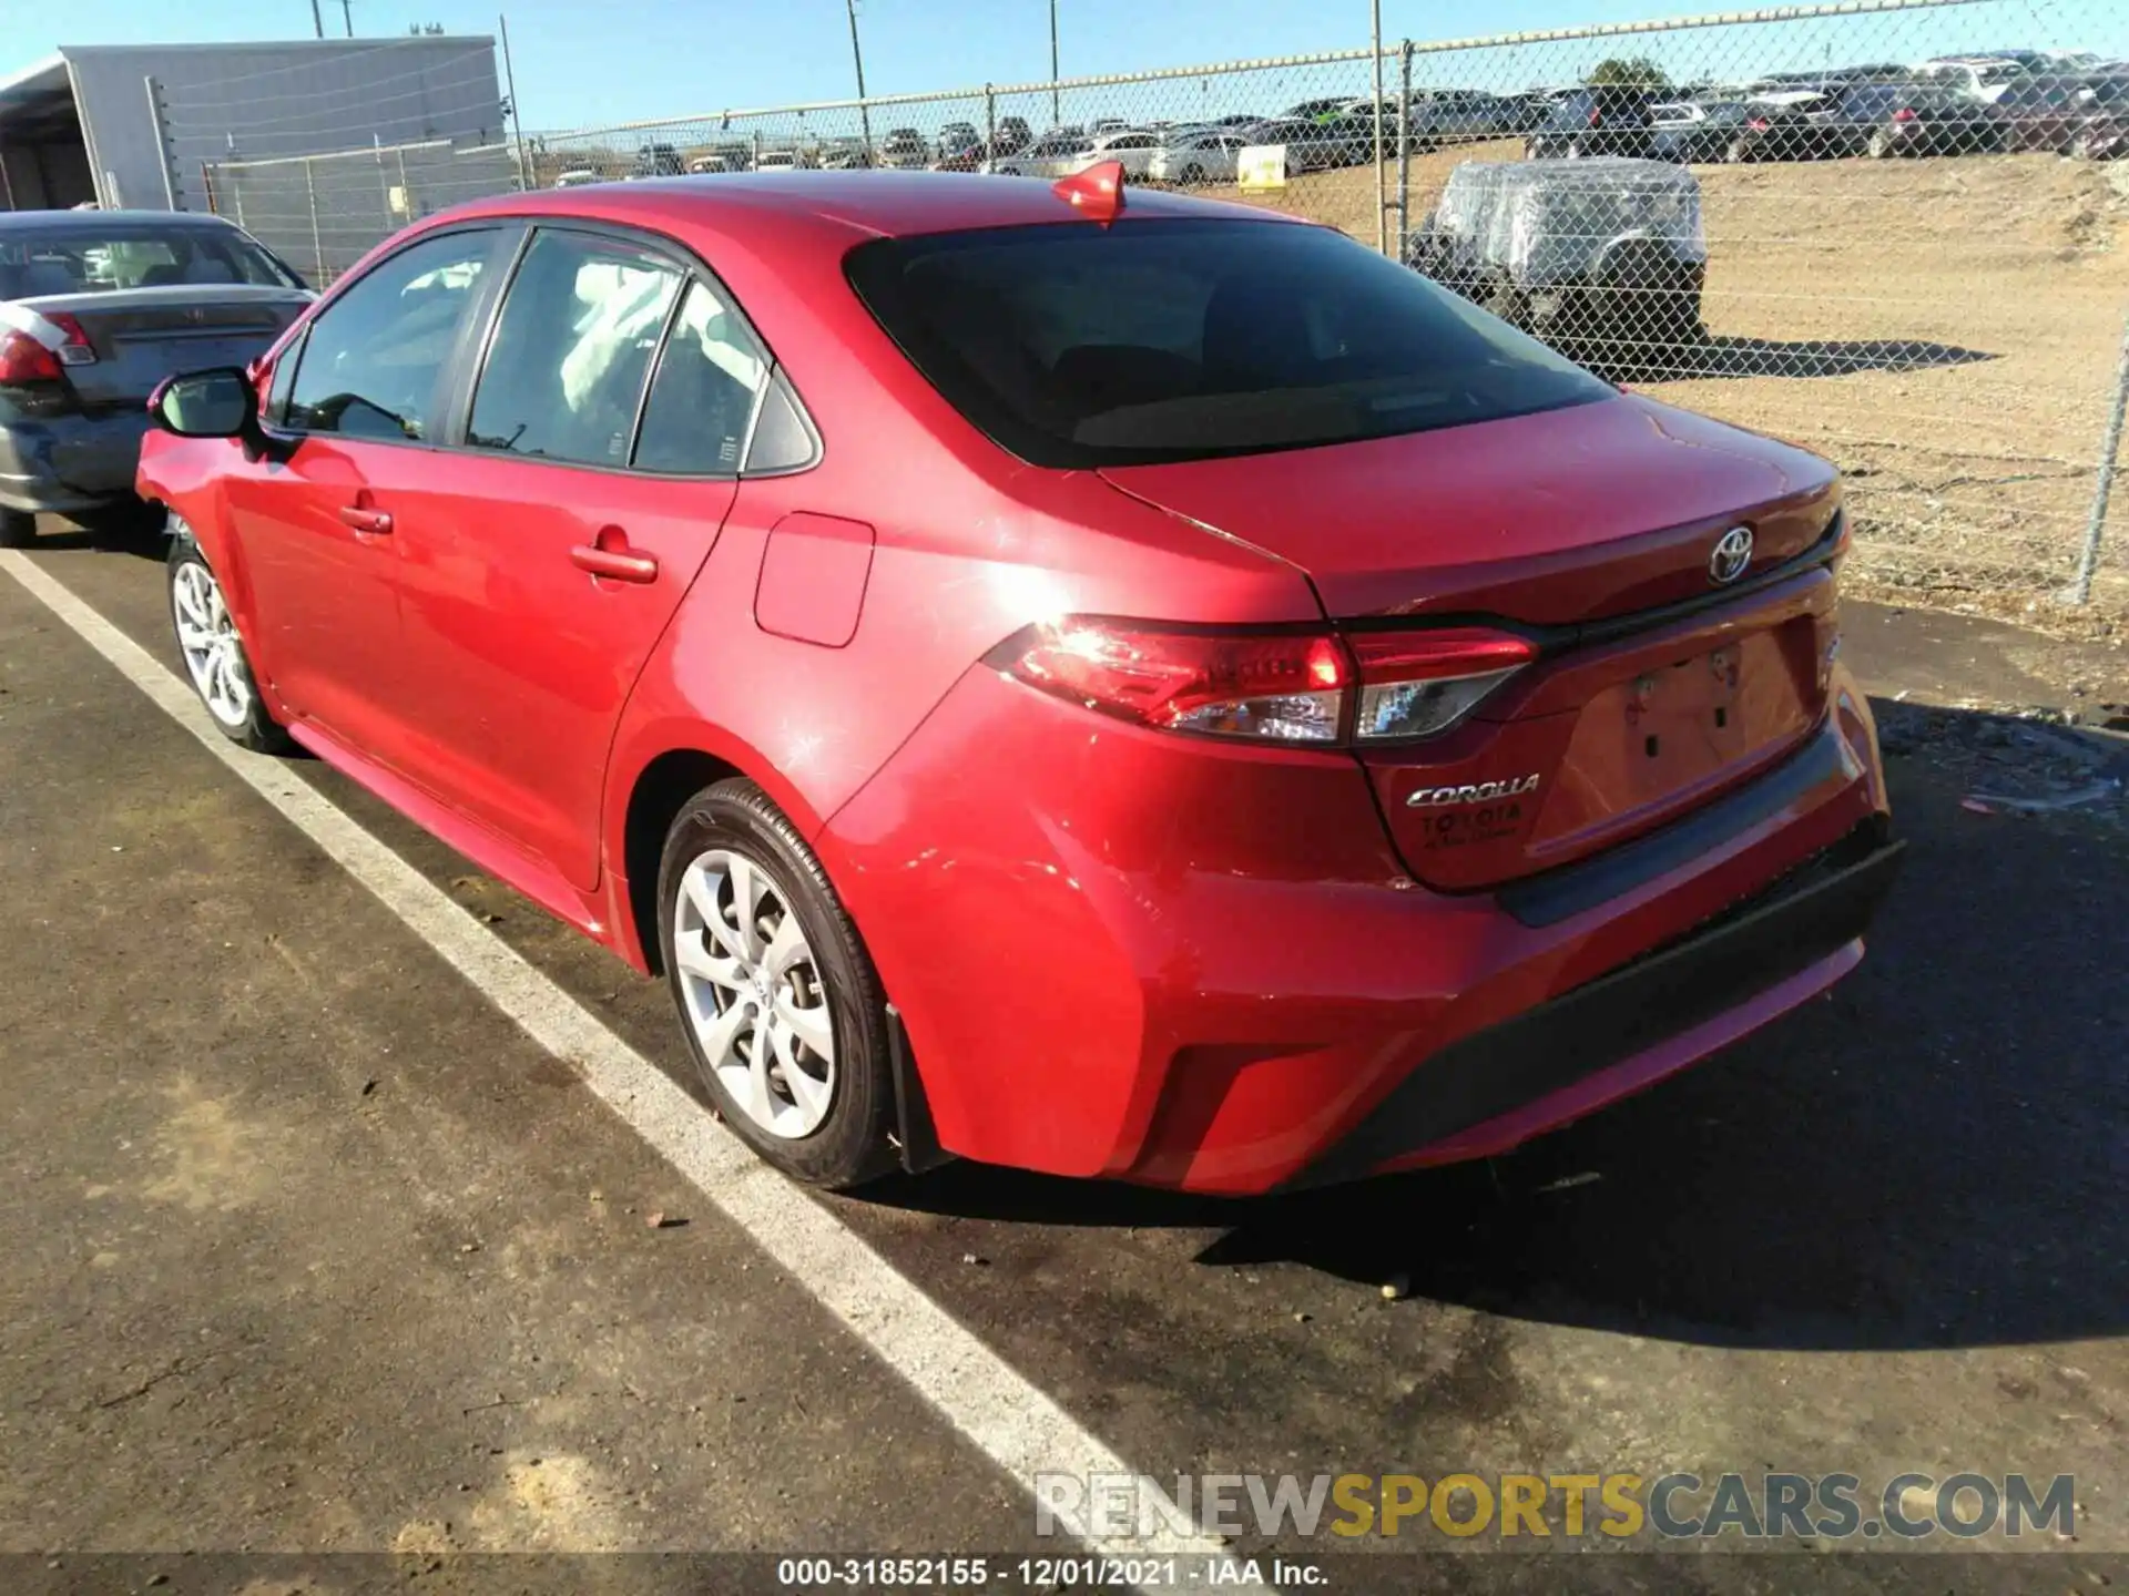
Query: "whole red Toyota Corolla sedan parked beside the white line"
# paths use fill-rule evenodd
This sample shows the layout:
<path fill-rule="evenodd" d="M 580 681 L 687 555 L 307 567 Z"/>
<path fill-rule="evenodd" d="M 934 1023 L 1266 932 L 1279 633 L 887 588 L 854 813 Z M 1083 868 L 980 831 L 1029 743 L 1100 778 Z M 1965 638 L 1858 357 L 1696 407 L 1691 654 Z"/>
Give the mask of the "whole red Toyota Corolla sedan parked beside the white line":
<path fill-rule="evenodd" d="M 1854 968 L 1835 472 L 1328 228 L 1122 204 L 430 217 L 158 396 L 192 681 L 664 970 L 830 1185 L 1495 1153 Z"/>

